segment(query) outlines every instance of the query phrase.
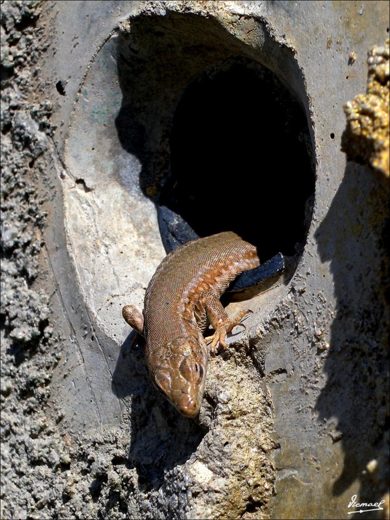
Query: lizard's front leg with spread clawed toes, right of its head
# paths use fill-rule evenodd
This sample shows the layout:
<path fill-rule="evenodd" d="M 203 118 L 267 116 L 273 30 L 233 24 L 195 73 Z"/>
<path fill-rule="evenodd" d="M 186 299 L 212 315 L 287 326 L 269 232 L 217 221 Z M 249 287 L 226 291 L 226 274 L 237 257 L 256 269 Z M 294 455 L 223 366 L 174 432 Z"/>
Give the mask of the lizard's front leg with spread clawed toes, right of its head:
<path fill-rule="evenodd" d="M 212 342 L 210 345 L 210 353 L 212 356 L 215 356 L 215 348 L 218 342 L 222 348 L 227 348 L 225 343 L 226 334 L 238 325 L 245 328 L 244 324 L 241 323 L 241 320 L 246 314 L 252 313 L 252 310 L 246 309 L 241 311 L 235 319 L 230 320 L 222 303 L 220 303 L 217 296 L 212 292 L 202 293 L 196 307 L 196 315 L 207 315 L 211 326 L 215 330 L 212 336 L 205 338 L 206 342 Z"/>

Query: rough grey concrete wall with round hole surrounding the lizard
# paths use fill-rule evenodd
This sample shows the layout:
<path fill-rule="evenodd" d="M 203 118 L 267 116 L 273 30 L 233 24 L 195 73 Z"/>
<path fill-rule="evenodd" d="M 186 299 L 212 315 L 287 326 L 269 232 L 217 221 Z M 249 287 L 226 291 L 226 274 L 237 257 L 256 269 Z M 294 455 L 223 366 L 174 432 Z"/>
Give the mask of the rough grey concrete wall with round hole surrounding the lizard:
<path fill-rule="evenodd" d="M 4 1 L 1 31 L 1 518 L 388 517 L 388 183 L 341 151 L 387 2 Z M 287 255 L 197 421 L 121 318 L 159 200 Z"/>

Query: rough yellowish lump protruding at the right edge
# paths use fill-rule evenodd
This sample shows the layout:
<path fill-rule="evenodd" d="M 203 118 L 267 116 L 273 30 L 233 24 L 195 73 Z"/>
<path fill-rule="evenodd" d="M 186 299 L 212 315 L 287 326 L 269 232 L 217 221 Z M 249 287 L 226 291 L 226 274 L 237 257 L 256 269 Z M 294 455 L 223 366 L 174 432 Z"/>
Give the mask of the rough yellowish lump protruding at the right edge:
<path fill-rule="evenodd" d="M 347 126 L 341 149 L 349 161 L 370 164 L 389 176 L 389 38 L 368 54 L 367 93 L 344 106 Z"/>

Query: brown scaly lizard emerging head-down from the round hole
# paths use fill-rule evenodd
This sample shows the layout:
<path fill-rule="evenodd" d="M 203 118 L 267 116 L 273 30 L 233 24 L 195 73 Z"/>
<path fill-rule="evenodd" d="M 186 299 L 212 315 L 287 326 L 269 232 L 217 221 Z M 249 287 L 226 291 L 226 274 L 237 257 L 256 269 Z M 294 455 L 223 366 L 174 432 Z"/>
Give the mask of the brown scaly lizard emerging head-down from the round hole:
<path fill-rule="evenodd" d="M 219 297 L 243 271 L 260 264 L 254 245 L 225 231 L 187 242 L 161 262 L 145 293 L 142 314 L 125 305 L 125 321 L 146 340 L 146 365 L 160 392 L 185 417 L 200 410 L 209 350 L 227 347 L 226 334 L 250 309 L 230 320 Z M 209 323 L 215 332 L 203 337 Z M 245 327 L 244 327 L 245 328 Z M 210 347 L 207 342 L 211 341 Z"/>

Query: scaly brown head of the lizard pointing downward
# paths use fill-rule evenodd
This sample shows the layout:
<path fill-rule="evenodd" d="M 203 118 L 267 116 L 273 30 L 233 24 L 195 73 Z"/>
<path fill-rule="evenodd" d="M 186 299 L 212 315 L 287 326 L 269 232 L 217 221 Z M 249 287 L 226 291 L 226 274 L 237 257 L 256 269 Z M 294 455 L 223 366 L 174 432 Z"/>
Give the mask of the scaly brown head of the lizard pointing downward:
<path fill-rule="evenodd" d="M 154 358 L 154 359 L 153 359 Z M 185 417 L 199 413 L 207 370 L 207 350 L 197 337 L 178 337 L 149 359 L 152 381 Z"/>

